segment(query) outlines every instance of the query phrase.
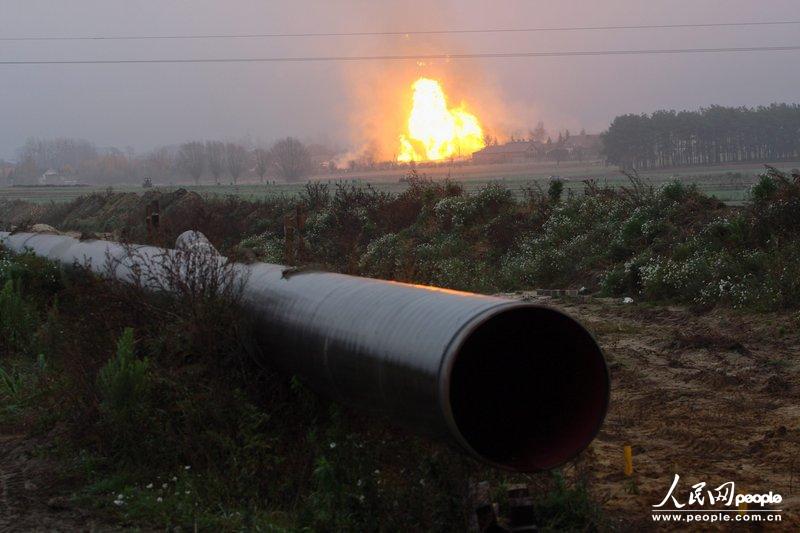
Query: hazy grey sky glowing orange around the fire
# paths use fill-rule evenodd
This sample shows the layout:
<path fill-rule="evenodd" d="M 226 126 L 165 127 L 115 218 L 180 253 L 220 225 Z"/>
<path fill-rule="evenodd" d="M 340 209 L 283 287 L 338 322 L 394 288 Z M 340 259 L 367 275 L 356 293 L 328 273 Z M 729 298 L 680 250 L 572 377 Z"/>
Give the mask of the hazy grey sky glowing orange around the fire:
<path fill-rule="evenodd" d="M 603 26 L 800 20 L 798 0 L 442 2 L 0 0 L 0 37 Z M 800 25 L 514 34 L 152 41 L 0 41 L 0 59 L 527 52 L 800 44 Z M 445 80 L 500 135 L 604 129 L 615 115 L 797 102 L 800 52 L 434 62 L 0 65 L 0 157 L 27 137 L 137 151 L 285 135 L 357 147 L 391 129 L 407 86 Z"/>

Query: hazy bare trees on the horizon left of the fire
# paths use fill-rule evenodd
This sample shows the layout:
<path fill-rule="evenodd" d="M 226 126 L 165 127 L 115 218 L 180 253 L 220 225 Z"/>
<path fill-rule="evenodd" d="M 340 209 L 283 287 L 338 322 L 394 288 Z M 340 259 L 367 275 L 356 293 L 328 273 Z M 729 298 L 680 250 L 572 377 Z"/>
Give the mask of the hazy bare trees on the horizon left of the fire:
<path fill-rule="evenodd" d="M 296 180 L 314 171 L 312 154 L 301 141 L 288 137 L 270 147 L 243 143 L 192 141 L 159 147 L 136 155 L 132 149 L 97 148 L 81 139 L 28 139 L 17 150 L 17 162 L 7 174 L 9 184 L 33 184 L 50 179 L 88 183 L 156 183 L 204 178 L 215 184 L 234 184 L 245 176 Z"/>

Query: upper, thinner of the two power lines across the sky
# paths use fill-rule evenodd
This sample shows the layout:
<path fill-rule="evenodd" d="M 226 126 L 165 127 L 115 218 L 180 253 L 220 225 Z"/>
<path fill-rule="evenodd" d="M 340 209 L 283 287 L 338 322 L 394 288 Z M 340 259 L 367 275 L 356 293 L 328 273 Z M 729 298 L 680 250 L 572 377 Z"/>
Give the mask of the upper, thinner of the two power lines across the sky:
<path fill-rule="evenodd" d="M 534 33 L 557 31 L 607 31 L 607 30 L 659 30 L 679 28 L 731 28 L 745 26 L 786 26 L 800 24 L 800 20 L 775 20 L 755 22 L 710 22 L 697 24 L 640 24 L 630 26 L 562 26 L 538 28 L 490 28 L 490 29 L 456 29 L 456 30 L 417 30 L 417 31 L 356 31 L 356 32 L 324 32 L 324 33 L 244 33 L 244 34 L 207 34 L 207 35 L 94 35 L 63 37 L 0 37 L 0 41 L 140 41 L 140 40 L 178 40 L 178 39 L 261 39 L 291 37 L 368 37 L 368 36 L 410 36 L 410 35 L 452 35 L 474 33 Z"/>

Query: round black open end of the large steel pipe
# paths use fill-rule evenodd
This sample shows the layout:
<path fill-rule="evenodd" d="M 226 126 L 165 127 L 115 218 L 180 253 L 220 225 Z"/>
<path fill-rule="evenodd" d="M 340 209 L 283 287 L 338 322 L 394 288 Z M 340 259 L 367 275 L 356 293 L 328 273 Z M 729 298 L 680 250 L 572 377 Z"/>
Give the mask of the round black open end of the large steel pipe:
<path fill-rule="evenodd" d="M 522 471 L 553 468 L 594 438 L 608 371 L 589 333 L 546 308 L 512 309 L 478 326 L 450 376 L 461 435 L 480 455 Z"/>

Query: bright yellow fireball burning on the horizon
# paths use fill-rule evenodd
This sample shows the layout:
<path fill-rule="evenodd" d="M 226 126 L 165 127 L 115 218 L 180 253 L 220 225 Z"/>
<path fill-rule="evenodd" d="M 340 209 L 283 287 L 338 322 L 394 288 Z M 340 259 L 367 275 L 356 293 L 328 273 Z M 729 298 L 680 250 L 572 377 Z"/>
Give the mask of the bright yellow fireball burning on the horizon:
<path fill-rule="evenodd" d="M 420 78 L 412 85 L 407 131 L 400 135 L 397 160 L 440 161 L 466 157 L 486 146 L 478 118 L 464 104 L 450 109 L 441 84 Z"/>

